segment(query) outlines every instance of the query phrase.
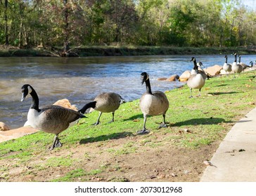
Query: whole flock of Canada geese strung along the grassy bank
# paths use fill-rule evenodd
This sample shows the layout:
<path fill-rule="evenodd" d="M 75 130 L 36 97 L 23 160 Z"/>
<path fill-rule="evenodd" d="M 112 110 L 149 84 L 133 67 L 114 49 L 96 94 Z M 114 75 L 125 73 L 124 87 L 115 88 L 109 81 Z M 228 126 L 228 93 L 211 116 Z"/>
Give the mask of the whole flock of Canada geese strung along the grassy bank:
<path fill-rule="evenodd" d="M 237 62 L 237 53 L 235 52 L 233 55 L 235 57 L 233 64 L 227 63 L 227 56 L 225 55 L 223 69 L 226 73 L 231 73 L 231 71 L 233 71 L 233 78 L 236 78 L 236 73 L 241 73 L 246 67 L 251 67 L 253 62 L 250 62 L 250 66 L 242 64 L 241 55 L 239 55 L 239 62 Z M 187 85 L 191 92 L 189 98 L 192 98 L 193 89 L 198 89 L 198 96 L 201 95 L 201 89 L 205 85 L 205 80 L 209 79 L 209 76 L 207 76 L 207 73 L 202 69 L 203 63 L 196 62 L 196 57 L 191 57 L 190 62 L 193 62 L 193 69 L 191 70 L 191 76 L 187 80 Z M 200 68 L 200 70 L 198 68 Z M 146 72 L 141 73 L 141 85 L 144 83 L 146 84 L 146 92 L 142 94 L 139 102 L 139 107 L 143 113 L 143 129 L 139 130 L 137 134 L 148 134 L 150 132 L 146 129 L 146 120 L 148 116 L 162 115 L 163 122 L 160 124 L 159 128 L 167 127 L 165 114 L 169 109 L 169 101 L 165 93 L 158 90 L 152 92 L 149 75 Z M 94 125 L 100 123 L 102 113 L 112 113 L 111 123 L 114 122 L 115 111 L 119 109 L 120 104 L 124 102 L 124 99 L 122 99 L 120 94 L 115 92 L 103 92 L 98 94 L 93 102 L 85 104 L 82 109 L 79 109 L 78 111 L 53 105 L 39 108 L 39 97 L 32 85 L 23 85 L 23 87 L 21 87 L 21 92 L 21 102 L 25 100 L 28 94 L 32 97 L 32 104 L 27 113 L 27 122 L 24 126 L 30 125 L 34 129 L 55 134 L 53 144 L 49 148 L 50 150 L 62 146 L 60 139 L 58 139 L 58 134 L 66 130 L 70 126 L 70 123 L 75 122 L 80 118 L 87 118 L 84 116 L 87 109 L 99 111 L 98 119 Z"/>

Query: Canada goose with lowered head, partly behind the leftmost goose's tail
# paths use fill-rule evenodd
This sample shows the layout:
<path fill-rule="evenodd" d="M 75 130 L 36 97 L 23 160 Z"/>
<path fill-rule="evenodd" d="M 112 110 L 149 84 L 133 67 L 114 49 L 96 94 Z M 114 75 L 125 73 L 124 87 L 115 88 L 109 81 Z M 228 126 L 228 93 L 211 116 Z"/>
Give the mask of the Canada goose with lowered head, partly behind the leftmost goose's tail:
<path fill-rule="evenodd" d="M 85 113 L 85 111 L 87 111 L 89 108 L 99 111 L 100 115 L 98 116 L 98 120 L 94 125 L 98 125 L 100 123 L 102 113 L 112 112 L 112 121 L 110 122 L 114 122 L 115 111 L 123 102 L 124 99 L 122 99 L 119 94 L 115 92 L 103 92 L 95 97 L 94 102 L 89 102 L 82 109 L 80 109 L 79 112 Z"/>

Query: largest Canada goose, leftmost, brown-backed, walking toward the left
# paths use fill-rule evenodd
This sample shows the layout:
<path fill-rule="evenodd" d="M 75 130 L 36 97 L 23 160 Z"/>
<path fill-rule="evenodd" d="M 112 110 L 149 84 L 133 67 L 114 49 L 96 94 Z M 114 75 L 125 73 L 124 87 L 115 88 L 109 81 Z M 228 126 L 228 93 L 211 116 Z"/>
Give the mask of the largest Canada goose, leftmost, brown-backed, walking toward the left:
<path fill-rule="evenodd" d="M 82 113 L 71 109 L 65 109 L 62 106 L 46 106 L 39 109 L 39 98 L 37 92 L 31 85 L 23 85 L 23 87 L 21 87 L 21 92 L 23 93 L 21 102 L 24 101 L 29 93 L 32 97 L 32 104 L 27 113 L 27 122 L 25 125 L 30 125 L 34 129 L 56 135 L 53 145 L 49 148 L 50 150 L 62 146 L 58 139 L 58 134 L 66 130 L 70 123 L 79 118 L 86 118 Z"/>

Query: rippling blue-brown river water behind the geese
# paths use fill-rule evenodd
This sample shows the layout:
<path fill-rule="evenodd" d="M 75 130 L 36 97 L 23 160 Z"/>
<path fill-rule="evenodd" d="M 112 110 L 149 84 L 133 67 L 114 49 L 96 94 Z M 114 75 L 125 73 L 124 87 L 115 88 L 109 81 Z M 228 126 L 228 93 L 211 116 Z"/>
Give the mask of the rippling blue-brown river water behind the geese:
<path fill-rule="evenodd" d="M 233 62 L 233 56 L 228 56 Z M 140 74 L 148 72 L 152 90 L 172 90 L 184 83 L 159 81 L 174 74 L 179 76 L 193 68 L 191 55 L 136 57 L 1 57 L 0 122 L 11 128 L 23 126 L 31 97 L 20 102 L 20 88 L 30 84 L 39 95 L 39 106 L 69 99 L 78 109 L 101 92 L 117 92 L 127 102 L 139 99 L 145 92 Z M 205 67 L 223 65 L 224 55 L 198 55 Z M 241 62 L 255 62 L 255 55 L 243 55 Z"/>

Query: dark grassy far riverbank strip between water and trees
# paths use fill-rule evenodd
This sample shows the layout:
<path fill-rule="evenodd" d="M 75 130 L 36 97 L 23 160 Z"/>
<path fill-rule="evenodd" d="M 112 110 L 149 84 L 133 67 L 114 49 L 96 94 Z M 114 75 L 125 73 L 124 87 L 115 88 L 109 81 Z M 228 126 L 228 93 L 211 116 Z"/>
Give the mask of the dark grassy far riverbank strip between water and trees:
<path fill-rule="evenodd" d="M 134 56 L 134 55 L 219 55 L 231 54 L 234 51 L 241 55 L 256 54 L 255 48 L 192 48 L 167 46 L 81 46 L 70 49 L 70 57 L 91 56 Z M 0 57 L 60 57 L 61 48 L 0 48 Z"/>

